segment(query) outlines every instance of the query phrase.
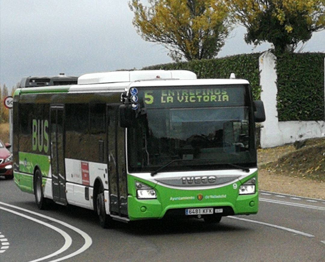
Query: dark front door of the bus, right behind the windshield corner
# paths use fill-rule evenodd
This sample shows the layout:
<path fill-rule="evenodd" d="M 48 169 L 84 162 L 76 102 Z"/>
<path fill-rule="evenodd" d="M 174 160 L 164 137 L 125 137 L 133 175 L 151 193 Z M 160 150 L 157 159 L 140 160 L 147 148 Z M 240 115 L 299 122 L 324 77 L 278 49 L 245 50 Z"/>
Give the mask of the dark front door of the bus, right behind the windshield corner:
<path fill-rule="evenodd" d="M 110 213 L 127 216 L 125 128 L 120 127 L 118 109 L 118 106 L 107 106 Z"/>

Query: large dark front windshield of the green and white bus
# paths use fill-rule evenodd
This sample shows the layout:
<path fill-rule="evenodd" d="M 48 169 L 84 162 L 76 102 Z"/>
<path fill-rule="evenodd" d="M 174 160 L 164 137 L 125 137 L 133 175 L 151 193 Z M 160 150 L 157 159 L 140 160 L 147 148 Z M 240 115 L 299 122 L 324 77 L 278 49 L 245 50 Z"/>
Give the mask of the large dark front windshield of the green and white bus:
<path fill-rule="evenodd" d="M 218 105 L 210 101 L 210 95 L 206 103 L 201 98 L 202 102 L 188 102 L 182 107 L 179 103 L 164 104 L 164 107 L 161 103 L 152 105 L 157 90 L 151 93 L 153 103 L 148 106 L 145 97 L 148 92 L 142 96 L 139 91 L 140 107 L 145 107 L 146 113 L 140 115 L 135 127 L 127 131 L 129 171 L 152 172 L 176 159 L 181 161 L 168 165 L 164 171 L 229 168 L 227 163 L 247 165 L 256 162 L 255 148 L 250 141 L 252 121 L 245 88 L 235 89 L 227 89 L 229 100 L 230 94 L 236 94 L 233 91 L 237 91 L 241 99 L 237 97 Z M 204 89 L 200 90 L 203 93 Z M 168 94 L 168 91 L 162 94 Z M 158 97 L 159 102 L 163 101 L 160 95 Z"/>

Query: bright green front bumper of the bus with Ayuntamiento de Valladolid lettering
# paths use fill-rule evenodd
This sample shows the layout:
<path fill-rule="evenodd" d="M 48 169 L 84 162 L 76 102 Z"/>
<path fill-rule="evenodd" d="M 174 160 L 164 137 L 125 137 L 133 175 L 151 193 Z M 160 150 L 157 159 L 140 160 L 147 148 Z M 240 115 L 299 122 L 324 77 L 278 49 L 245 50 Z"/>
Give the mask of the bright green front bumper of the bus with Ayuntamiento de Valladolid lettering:
<path fill-rule="evenodd" d="M 256 214 L 258 212 L 258 184 L 256 183 L 255 194 L 239 195 L 239 186 L 253 176 L 257 178 L 257 172 L 241 181 L 237 180 L 237 182 L 220 188 L 181 190 L 168 188 L 128 175 L 128 215 L 130 220 L 162 218 L 169 209 L 213 206 L 230 206 L 235 215 Z M 145 183 L 154 188 L 157 193 L 157 199 L 137 199 L 135 181 Z M 201 200 L 199 200 L 199 195 L 203 196 Z M 252 201 L 254 201 L 253 206 L 250 205 Z"/>

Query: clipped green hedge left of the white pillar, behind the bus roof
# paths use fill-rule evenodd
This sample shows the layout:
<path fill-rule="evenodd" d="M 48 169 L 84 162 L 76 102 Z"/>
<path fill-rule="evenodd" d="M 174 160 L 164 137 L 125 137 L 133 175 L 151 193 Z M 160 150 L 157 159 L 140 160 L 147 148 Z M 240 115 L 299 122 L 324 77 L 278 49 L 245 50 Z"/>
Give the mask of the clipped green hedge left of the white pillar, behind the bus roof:
<path fill-rule="evenodd" d="M 229 78 L 230 73 L 235 73 L 236 78 L 246 79 L 250 82 L 253 99 L 260 99 L 260 53 L 235 55 L 217 59 L 191 60 L 169 64 L 153 65 L 143 70 L 189 70 L 196 73 L 198 78 Z"/>

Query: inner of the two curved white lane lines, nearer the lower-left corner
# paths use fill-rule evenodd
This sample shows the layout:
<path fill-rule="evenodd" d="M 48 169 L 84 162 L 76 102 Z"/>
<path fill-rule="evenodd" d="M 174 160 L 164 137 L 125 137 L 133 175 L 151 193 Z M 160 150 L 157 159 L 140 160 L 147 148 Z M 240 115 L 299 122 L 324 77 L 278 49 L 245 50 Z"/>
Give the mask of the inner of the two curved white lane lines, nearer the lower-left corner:
<path fill-rule="evenodd" d="M 22 216 L 22 217 L 27 218 L 27 219 L 29 219 L 29 220 L 32 220 L 32 221 L 34 221 L 34 222 L 36 222 L 36 223 L 39 223 L 39 224 L 41 224 L 41 225 L 43 225 L 43 226 L 46 226 L 46 227 L 48 227 L 48 228 L 50 228 L 50 229 L 53 229 L 53 230 L 57 231 L 59 234 L 61 234 L 62 237 L 64 238 L 64 245 L 63 245 L 63 246 L 62 246 L 58 251 L 56 251 L 56 252 L 54 252 L 54 253 L 52 253 L 52 254 L 50 254 L 50 255 L 47 255 L 47 256 L 44 256 L 44 257 L 41 257 L 41 258 L 38 258 L 38 259 L 32 260 L 32 261 L 30 261 L 30 262 L 41 261 L 41 260 L 44 260 L 44 259 L 47 259 L 47 258 L 53 257 L 53 256 L 55 256 L 55 255 L 59 255 L 59 254 L 61 254 L 62 252 L 66 251 L 66 250 L 71 246 L 71 244 L 72 244 L 72 239 L 71 239 L 71 237 L 70 237 L 66 232 L 64 232 L 62 229 L 59 229 L 59 228 L 57 228 L 57 227 L 55 227 L 55 226 L 53 226 L 53 225 L 50 225 L 50 224 L 48 224 L 48 223 L 45 223 L 45 222 L 41 221 L 41 220 L 38 220 L 38 219 L 33 218 L 33 217 L 31 217 L 31 216 L 26 216 L 26 215 L 24 215 L 24 214 L 21 214 L 21 213 L 19 213 L 19 212 L 16 212 L 16 211 L 14 211 L 14 210 L 11 210 L 11 209 L 8 209 L 8 208 L 5 208 L 5 207 L 0 207 L 0 209 L 5 210 L 5 211 L 10 212 L 10 213 L 13 213 L 13 214 L 15 214 L 15 215 L 17 215 L 17 216 Z"/>

